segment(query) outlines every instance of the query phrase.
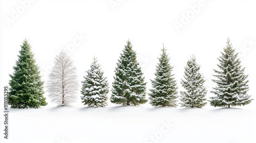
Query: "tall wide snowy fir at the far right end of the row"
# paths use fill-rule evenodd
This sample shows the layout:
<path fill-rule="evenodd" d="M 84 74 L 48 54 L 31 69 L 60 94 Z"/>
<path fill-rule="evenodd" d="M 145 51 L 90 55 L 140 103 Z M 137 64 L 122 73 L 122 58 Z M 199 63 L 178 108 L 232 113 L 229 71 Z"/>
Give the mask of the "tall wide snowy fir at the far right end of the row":
<path fill-rule="evenodd" d="M 241 61 L 238 58 L 238 53 L 234 53 L 232 44 L 229 38 L 227 39 L 227 45 L 224 47 L 224 52 L 221 52 L 220 64 L 218 67 L 220 70 L 215 70 L 217 75 L 214 75 L 217 80 L 212 80 L 217 83 L 214 91 L 211 91 L 216 97 L 210 97 L 210 105 L 214 107 L 228 107 L 241 106 L 251 103 L 253 99 L 247 94 L 249 90 L 248 75 L 244 74 L 244 68 L 242 68 Z"/>

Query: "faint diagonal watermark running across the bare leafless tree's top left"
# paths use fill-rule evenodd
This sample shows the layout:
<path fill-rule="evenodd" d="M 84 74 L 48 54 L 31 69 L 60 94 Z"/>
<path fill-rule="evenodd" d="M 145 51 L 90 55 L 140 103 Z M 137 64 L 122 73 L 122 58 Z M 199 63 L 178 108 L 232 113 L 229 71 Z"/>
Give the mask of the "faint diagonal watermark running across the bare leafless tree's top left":
<path fill-rule="evenodd" d="M 64 48 L 68 55 L 74 52 L 76 48 L 79 47 L 84 42 L 84 40 L 87 39 L 87 37 L 84 37 L 82 33 L 75 34 L 74 37 L 75 38 L 73 39 L 73 41 L 69 43 L 67 47 Z M 42 72 L 41 72 L 42 78 L 47 78 L 53 66 L 54 66 L 54 61 L 52 61 L 51 64 L 48 66 L 42 66 Z"/>

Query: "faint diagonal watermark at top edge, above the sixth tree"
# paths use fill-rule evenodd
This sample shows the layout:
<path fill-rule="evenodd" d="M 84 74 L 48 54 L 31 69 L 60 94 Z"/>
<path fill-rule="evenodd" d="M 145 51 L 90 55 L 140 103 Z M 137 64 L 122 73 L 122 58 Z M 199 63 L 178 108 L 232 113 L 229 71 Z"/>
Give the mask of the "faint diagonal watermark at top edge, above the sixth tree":
<path fill-rule="evenodd" d="M 174 26 L 178 32 L 180 32 L 181 28 L 184 28 L 191 19 L 195 18 L 196 14 L 201 11 L 201 8 L 205 7 L 206 3 L 204 0 L 200 0 L 197 5 L 189 6 L 190 10 L 186 14 L 181 14 L 180 22 L 175 21 Z"/>

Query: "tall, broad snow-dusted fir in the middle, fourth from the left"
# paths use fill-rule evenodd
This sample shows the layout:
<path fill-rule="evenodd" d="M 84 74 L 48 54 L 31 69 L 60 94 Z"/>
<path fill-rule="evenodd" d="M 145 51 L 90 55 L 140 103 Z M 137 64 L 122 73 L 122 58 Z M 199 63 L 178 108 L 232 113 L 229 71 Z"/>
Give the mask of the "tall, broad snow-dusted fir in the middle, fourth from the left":
<path fill-rule="evenodd" d="M 147 102 L 146 82 L 131 41 L 126 41 L 123 53 L 115 68 L 115 77 L 110 101 L 121 105 L 139 105 Z"/>

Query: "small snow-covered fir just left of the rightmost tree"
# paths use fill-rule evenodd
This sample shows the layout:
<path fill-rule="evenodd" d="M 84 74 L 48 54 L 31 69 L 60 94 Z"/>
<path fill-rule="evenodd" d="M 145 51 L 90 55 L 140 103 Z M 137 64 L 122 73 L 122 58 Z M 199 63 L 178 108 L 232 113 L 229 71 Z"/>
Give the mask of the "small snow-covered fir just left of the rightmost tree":
<path fill-rule="evenodd" d="M 202 74 L 199 73 L 200 65 L 196 62 L 196 57 L 190 57 L 187 61 L 184 71 L 184 79 L 181 80 L 182 87 L 186 91 L 181 91 L 181 107 L 186 108 L 202 108 L 207 104 L 206 87 L 203 85 L 205 80 Z"/>

